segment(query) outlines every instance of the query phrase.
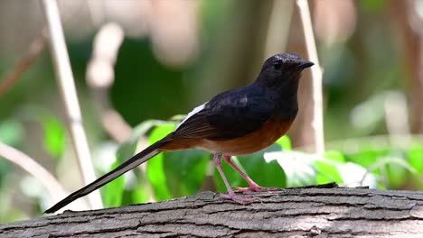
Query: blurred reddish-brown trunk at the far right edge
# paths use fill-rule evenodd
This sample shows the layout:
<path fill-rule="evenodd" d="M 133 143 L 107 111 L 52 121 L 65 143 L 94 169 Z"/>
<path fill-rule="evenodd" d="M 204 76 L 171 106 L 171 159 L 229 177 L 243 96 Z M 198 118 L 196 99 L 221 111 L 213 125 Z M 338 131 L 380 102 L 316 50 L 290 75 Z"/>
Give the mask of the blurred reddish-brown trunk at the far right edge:
<path fill-rule="evenodd" d="M 390 13 L 398 24 L 405 47 L 406 69 L 409 69 L 412 132 L 423 133 L 423 30 L 422 19 L 416 10 L 417 1 L 389 1 Z"/>

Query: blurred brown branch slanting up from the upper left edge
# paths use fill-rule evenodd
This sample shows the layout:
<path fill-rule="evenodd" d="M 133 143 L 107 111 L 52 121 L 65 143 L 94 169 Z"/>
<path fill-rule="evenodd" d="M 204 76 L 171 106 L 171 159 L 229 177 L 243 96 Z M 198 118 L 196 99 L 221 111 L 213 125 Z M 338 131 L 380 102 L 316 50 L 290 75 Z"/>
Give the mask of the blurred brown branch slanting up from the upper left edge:
<path fill-rule="evenodd" d="M 42 29 L 40 35 L 38 35 L 33 42 L 31 42 L 28 52 L 26 55 L 19 60 L 19 62 L 14 66 L 14 69 L 5 76 L 4 79 L 0 81 L 0 97 L 5 94 L 14 86 L 19 78 L 24 74 L 24 72 L 33 64 L 35 59 L 42 53 L 44 50 L 45 43 L 47 42 L 47 32 L 45 29 Z"/>

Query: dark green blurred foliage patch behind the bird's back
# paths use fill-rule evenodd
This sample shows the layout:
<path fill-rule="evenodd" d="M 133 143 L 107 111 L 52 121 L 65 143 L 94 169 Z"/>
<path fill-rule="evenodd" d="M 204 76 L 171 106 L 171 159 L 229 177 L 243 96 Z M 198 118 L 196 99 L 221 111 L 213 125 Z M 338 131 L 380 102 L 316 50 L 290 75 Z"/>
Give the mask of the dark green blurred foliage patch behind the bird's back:
<path fill-rule="evenodd" d="M 126 39 L 120 47 L 115 70 L 111 101 L 127 123 L 136 125 L 152 115 L 166 118 L 181 113 L 181 108 L 169 104 L 168 98 L 186 104 L 188 88 L 183 87 L 183 70 L 159 63 L 149 41 Z"/>

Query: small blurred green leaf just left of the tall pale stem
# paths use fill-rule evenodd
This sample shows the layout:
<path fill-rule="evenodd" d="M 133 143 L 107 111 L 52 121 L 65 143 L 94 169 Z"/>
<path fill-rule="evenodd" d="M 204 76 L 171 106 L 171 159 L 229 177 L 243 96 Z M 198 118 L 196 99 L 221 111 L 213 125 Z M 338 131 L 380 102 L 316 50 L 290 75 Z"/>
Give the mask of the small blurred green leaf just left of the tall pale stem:
<path fill-rule="evenodd" d="M 53 158 L 60 159 L 65 149 L 65 128 L 54 116 L 45 114 L 41 119 L 44 148 Z"/>

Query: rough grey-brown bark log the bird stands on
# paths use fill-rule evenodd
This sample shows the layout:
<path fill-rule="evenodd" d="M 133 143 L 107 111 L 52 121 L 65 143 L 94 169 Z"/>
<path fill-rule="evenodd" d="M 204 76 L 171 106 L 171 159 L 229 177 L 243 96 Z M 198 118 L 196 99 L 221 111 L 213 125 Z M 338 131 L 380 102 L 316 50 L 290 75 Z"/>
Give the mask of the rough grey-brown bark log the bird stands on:
<path fill-rule="evenodd" d="M 423 237 L 423 192 L 291 188 L 239 205 L 212 192 L 0 226 L 0 237 Z"/>

